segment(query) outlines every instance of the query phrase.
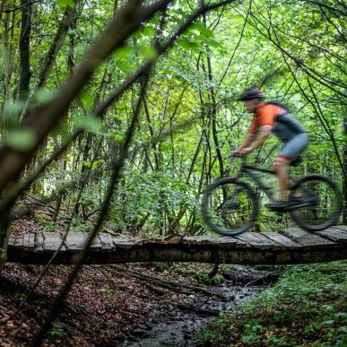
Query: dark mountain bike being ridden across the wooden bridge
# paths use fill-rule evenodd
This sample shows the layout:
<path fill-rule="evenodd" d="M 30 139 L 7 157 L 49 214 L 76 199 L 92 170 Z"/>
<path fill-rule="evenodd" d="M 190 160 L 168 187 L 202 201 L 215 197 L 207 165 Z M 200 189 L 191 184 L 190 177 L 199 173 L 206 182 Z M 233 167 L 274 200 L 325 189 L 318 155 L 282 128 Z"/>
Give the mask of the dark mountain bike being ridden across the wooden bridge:
<path fill-rule="evenodd" d="M 245 157 L 235 178 L 219 178 L 204 191 L 201 203 L 203 220 L 209 228 L 221 235 L 233 236 L 249 230 L 259 214 L 259 195 L 243 177 L 247 176 L 271 202 L 274 201 L 273 187 L 266 185 L 256 172 L 275 175 L 271 169 L 249 165 Z M 295 160 L 294 166 L 298 160 Z M 324 230 L 332 226 L 342 212 L 342 195 L 335 183 L 325 176 L 309 175 L 291 178 L 293 186 L 289 192 L 288 204 L 275 213 L 290 213 L 296 224 L 308 231 Z M 291 201 L 299 197 L 300 204 Z"/>

